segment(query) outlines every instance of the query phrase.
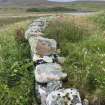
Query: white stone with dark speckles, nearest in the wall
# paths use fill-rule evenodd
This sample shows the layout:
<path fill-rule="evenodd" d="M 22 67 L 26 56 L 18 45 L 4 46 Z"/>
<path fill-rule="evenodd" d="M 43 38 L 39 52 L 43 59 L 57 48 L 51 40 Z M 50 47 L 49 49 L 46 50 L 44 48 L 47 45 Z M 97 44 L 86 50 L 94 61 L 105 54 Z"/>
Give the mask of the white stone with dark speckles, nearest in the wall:
<path fill-rule="evenodd" d="M 77 89 L 61 89 L 51 92 L 46 105 L 82 105 Z"/>

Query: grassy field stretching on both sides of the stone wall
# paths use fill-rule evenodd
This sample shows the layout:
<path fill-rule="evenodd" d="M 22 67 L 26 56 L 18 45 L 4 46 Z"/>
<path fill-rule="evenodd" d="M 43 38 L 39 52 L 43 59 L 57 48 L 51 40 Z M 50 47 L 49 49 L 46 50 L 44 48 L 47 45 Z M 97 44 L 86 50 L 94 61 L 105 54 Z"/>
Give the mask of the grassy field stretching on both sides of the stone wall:
<path fill-rule="evenodd" d="M 82 6 L 84 11 L 104 10 L 104 4 L 97 5 L 65 6 L 76 10 Z M 52 15 L 45 12 L 27 12 L 27 8 L 22 12 L 0 10 L 0 105 L 35 105 L 33 62 L 23 36 L 33 19 Z M 63 68 L 68 73 L 68 82 L 64 86 L 78 88 L 90 105 L 94 101 L 105 105 L 105 12 L 88 17 L 60 15 L 49 23 L 45 34 L 57 40 L 61 55 L 66 57 Z"/>

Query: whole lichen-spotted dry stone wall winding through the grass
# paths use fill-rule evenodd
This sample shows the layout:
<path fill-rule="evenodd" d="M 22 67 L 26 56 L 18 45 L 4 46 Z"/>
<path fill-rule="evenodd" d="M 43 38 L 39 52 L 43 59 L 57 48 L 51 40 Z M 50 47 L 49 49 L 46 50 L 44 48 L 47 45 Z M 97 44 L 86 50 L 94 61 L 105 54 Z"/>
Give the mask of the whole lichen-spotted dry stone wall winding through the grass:
<path fill-rule="evenodd" d="M 79 91 L 74 88 L 64 89 L 63 81 L 67 78 L 61 63 L 64 57 L 57 54 L 57 42 L 44 37 L 43 30 L 48 22 L 56 17 L 41 17 L 33 21 L 25 32 L 29 41 L 32 60 L 35 63 L 36 97 L 39 105 L 82 105 Z"/>

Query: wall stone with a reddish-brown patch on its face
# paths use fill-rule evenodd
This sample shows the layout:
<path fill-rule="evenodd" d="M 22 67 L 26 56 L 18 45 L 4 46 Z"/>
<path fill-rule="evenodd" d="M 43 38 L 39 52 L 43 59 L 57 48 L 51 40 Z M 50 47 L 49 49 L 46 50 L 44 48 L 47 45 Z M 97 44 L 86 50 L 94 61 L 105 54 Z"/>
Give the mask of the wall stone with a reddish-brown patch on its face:
<path fill-rule="evenodd" d="M 30 37 L 29 44 L 33 54 L 47 56 L 56 52 L 56 41 L 54 39 L 39 37 Z"/>

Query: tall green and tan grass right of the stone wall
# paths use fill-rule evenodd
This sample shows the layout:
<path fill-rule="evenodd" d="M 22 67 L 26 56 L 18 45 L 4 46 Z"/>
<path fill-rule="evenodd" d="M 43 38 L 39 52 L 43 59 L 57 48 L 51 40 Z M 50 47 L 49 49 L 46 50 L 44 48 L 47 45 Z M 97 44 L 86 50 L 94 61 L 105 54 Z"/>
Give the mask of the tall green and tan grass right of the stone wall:
<path fill-rule="evenodd" d="M 100 23 L 96 22 L 97 19 L 93 22 L 95 16 L 91 17 L 92 22 L 89 18 L 86 21 L 87 27 L 81 23 L 80 17 L 77 18 L 74 21 L 70 17 L 57 19 L 49 24 L 45 33 L 47 37 L 58 41 L 61 55 L 66 57 L 64 70 L 68 74 L 68 82 L 64 86 L 79 88 L 81 94 L 89 99 L 90 105 L 94 105 L 93 97 L 97 97 L 97 101 L 104 105 L 105 37 L 101 34 L 99 26 L 96 27 L 98 31 L 95 27 L 89 29 L 93 23 L 92 26 L 101 26 L 103 18 L 97 18 L 102 18 Z"/>

